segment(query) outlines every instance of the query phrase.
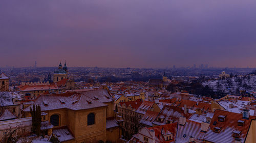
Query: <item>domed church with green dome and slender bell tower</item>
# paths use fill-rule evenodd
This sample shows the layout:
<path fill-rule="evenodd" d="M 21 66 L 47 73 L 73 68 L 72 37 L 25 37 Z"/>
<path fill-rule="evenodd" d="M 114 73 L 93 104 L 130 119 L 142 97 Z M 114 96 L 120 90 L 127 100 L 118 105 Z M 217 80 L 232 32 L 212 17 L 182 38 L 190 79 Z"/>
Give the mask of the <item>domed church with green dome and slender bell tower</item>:
<path fill-rule="evenodd" d="M 53 73 L 53 82 L 58 82 L 62 79 L 67 79 L 67 78 L 68 78 L 68 68 L 66 65 L 66 61 L 65 61 L 65 65 L 63 68 L 62 68 L 62 65 L 60 62 L 58 69 L 55 70 Z"/>

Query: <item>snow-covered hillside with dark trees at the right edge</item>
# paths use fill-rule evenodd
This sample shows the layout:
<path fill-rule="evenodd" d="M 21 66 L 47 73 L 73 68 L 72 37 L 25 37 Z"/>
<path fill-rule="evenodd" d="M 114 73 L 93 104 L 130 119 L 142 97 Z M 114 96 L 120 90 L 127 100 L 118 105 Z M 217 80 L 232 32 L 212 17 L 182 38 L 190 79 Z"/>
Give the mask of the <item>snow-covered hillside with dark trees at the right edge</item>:
<path fill-rule="evenodd" d="M 202 83 L 208 85 L 214 91 L 224 91 L 225 93 L 239 94 L 239 91 L 256 91 L 256 75 L 237 76 L 232 78 L 210 80 Z"/>

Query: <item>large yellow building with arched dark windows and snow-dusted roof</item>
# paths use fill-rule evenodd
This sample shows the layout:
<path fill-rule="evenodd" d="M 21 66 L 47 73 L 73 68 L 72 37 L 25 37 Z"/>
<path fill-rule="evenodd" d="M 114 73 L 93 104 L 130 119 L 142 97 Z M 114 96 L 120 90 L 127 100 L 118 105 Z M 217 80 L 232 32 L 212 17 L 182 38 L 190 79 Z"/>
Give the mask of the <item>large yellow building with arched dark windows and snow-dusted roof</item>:
<path fill-rule="evenodd" d="M 113 99 L 105 90 L 83 93 L 41 95 L 34 104 L 47 113 L 47 120 L 54 125 L 53 134 L 61 141 L 58 131 L 67 129 L 72 134 L 69 140 L 61 142 L 97 142 L 99 140 L 118 142 L 121 130 L 114 119 Z M 24 116 L 30 117 L 29 108 Z M 107 136 L 108 134 L 108 136 Z"/>

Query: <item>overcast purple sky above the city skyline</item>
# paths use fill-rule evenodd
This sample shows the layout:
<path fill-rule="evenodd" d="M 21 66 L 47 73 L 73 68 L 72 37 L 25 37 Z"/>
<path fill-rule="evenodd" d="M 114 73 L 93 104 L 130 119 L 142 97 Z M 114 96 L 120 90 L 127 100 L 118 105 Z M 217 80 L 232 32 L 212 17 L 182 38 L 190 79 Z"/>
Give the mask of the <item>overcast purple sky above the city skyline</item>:
<path fill-rule="evenodd" d="M 256 67 L 256 1 L 0 3 L 0 66 Z"/>

